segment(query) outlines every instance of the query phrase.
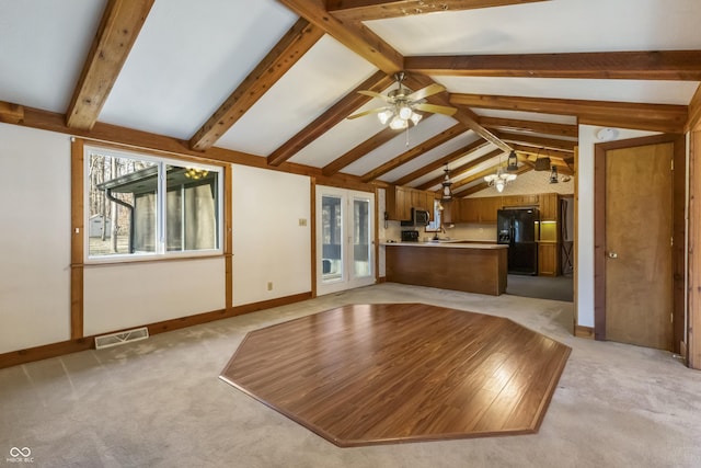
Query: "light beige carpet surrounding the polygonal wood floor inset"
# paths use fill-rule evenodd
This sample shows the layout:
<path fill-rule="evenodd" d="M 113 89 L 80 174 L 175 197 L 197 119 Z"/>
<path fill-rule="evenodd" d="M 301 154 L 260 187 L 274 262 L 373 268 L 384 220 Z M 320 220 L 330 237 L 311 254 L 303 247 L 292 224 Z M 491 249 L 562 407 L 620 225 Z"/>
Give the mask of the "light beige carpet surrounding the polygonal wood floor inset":
<path fill-rule="evenodd" d="M 572 346 L 533 435 L 338 448 L 218 375 L 250 331 L 345 304 L 509 317 Z M 576 339 L 573 305 L 382 284 L 0 370 L 0 466 L 698 467 L 701 373 L 669 353 Z M 26 466 L 26 465 L 25 465 Z"/>

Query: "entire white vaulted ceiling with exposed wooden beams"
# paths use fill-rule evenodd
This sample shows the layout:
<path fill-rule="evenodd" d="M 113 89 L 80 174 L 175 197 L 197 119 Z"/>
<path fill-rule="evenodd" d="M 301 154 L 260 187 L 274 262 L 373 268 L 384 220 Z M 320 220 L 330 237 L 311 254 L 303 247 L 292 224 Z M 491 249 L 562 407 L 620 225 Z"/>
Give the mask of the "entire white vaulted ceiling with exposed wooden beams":
<path fill-rule="evenodd" d="M 700 20 L 691 0 L 0 0 L 0 122 L 425 190 L 448 164 L 463 196 L 510 150 L 571 173 L 577 124 L 683 132 Z M 457 113 L 346 118 L 400 70 Z"/>

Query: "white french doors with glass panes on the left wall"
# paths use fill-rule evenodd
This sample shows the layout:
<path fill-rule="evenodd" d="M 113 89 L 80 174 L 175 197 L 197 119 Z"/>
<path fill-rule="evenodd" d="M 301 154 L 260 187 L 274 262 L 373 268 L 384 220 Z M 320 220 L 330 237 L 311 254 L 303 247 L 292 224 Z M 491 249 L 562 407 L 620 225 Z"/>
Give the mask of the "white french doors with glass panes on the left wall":
<path fill-rule="evenodd" d="M 375 283 L 375 194 L 317 186 L 317 294 Z"/>

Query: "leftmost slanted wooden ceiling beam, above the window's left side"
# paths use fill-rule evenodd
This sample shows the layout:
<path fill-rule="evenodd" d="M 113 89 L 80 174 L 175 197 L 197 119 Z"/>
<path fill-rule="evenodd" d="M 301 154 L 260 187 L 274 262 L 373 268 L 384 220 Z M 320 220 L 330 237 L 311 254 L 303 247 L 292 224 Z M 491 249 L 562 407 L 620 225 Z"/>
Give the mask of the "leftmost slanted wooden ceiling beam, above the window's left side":
<path fill-rule="evenodd" d="M 66 111 L 70 128 L 97 122 L 154 0 L 110 0 Z"/>

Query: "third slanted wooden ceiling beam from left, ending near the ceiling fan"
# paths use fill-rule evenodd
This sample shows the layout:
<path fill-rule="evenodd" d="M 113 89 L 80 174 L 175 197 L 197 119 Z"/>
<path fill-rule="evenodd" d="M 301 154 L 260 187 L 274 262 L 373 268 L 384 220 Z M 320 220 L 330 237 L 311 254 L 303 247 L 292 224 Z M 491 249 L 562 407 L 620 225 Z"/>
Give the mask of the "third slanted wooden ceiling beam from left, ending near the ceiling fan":
<path fill-rule="evenodd" d="M 352 112 L 366 104 L 372 98 L 358 94 L 358 91 L 369 90 L 381 92 L 394 82 L 392 78 L 383 71 L 378 71 L 370 78 L 365 80 L 355 90 L 346 94 L 329 111 L 317 117 L 311 124 L 307 125 L 301 132 L 283 144 L 267 157 L 269 165 L 278 165 L 295 156 L 299 150 L 312 142 L 314 139 L 329 132 L 334 125 L 346 118 Z"/>

